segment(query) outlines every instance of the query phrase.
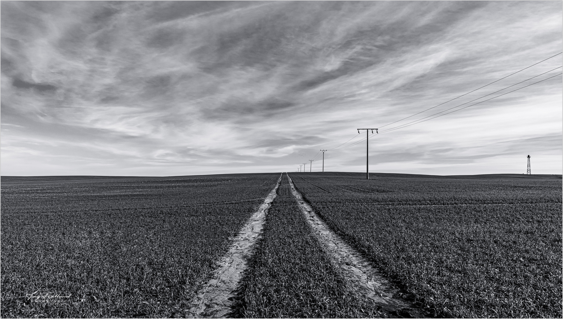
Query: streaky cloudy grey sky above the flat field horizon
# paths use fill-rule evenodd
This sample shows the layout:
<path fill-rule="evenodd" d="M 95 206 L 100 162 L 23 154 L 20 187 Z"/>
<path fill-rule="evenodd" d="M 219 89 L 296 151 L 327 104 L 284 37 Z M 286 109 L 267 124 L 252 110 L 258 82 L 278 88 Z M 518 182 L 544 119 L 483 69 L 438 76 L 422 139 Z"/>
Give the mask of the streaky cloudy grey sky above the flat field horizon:
<path fill-rule="evenodd" d="M 358 128 L 378 128 L 370 172 L 521 174 L 530 155 L 531 173 L 561 174 L 561 1 L 2 1 L 1 15 L 2 176 L 319 171 L 321 149 L 325 171 L 365 172 Z"/>

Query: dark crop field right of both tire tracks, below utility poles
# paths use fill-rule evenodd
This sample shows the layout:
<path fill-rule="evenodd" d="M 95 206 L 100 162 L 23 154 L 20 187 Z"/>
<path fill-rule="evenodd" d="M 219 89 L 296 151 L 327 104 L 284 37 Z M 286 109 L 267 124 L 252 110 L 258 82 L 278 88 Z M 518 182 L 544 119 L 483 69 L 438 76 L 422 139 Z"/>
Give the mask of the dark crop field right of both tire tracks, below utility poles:
<path fill-rule="evenodd" d="M 562 316 L 560 179 L 321 174 L 292 178 L 436 316 Z"/>

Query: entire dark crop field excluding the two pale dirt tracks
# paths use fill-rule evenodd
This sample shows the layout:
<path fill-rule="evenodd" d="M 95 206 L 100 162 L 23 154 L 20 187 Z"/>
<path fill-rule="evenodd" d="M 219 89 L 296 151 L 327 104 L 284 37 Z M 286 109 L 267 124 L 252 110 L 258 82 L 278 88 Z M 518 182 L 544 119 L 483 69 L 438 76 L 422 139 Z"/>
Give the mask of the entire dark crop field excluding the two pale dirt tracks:
<path fill-rule="evenodd" d="M 189 317 L 279 176 L 2 177 L 0 317 Z M 289 176 L 421 313 L 562 316 L 560 178 Z M 397 316 L 363 300 L 317 236 L 284 174 L 234 315 Z"/>

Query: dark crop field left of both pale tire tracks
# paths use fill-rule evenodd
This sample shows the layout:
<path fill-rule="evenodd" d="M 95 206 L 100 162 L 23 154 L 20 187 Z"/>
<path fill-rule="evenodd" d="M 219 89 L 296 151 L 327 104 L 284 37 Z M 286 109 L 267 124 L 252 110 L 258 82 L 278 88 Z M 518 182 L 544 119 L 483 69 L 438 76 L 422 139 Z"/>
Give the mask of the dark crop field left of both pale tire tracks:
<path fill-rule="evenodd" d="M 1 316 L 184 316 L 278 177 L 3 185 Z"/>

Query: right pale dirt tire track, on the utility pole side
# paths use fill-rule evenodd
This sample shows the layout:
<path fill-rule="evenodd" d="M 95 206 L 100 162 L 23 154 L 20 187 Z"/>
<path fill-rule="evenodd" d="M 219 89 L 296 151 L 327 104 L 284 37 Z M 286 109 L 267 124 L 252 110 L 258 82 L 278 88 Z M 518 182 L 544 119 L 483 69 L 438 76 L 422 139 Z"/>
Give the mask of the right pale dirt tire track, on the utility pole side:
<path fill-rule="evenodd" d="M 313 231 L 317 233 L 320 241 L 327 247 L 328 253 L 332 255 L 338 266 L 347 272 L 348 279 L 359 287 L 364 298 L 372 300 L 373 303 L 396 316 L 425 317 L 412 303 L 396 297 L 399 289 L 383 277 L 367 258 L 346 244 L 341 236 L 330 230 L 323 219 L 315 213 L 311 205 L 296 190 L 289 174 L 287 174 L 287 177 L 293 196 L 296 198 L 302 212 L 305 213 L 305 217 Z"/>

